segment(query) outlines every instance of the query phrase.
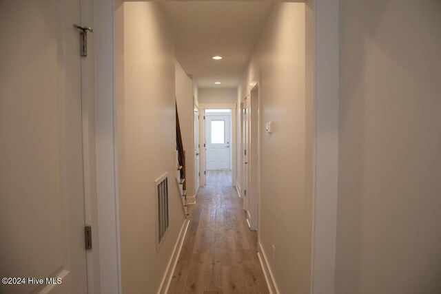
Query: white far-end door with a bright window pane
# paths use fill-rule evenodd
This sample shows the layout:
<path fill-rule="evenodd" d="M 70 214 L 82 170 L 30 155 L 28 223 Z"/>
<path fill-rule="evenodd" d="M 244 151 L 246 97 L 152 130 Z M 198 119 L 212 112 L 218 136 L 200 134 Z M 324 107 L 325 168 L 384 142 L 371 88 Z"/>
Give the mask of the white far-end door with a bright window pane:
<path fill-rule="evenodd" d="M 230 169 L 231 116 L 205 114 L 205 168 Z"/>

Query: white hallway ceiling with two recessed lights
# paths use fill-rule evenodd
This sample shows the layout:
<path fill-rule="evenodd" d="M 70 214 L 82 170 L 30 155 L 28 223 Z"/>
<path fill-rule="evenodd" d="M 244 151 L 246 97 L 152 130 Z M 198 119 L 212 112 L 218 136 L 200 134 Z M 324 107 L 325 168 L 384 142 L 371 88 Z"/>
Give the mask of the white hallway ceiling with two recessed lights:
<path fill-rule="evenodd" d="M 176 58 L 198 87 L 237 87 L 273 3 L 167 1 L 161 6 L 174 33 Z M 223 59 L 214 61 L 215 55 Z"/>

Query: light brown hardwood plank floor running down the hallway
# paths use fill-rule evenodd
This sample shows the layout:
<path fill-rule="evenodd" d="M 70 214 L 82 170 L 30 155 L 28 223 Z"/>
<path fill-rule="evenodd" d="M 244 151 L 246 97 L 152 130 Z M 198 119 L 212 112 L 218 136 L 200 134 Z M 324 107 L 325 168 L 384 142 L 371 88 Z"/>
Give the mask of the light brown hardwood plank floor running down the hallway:
<path fill-rule="evenodd" d="M 207 171 L 168 293 L 269 293 L 230 171 Z"/>

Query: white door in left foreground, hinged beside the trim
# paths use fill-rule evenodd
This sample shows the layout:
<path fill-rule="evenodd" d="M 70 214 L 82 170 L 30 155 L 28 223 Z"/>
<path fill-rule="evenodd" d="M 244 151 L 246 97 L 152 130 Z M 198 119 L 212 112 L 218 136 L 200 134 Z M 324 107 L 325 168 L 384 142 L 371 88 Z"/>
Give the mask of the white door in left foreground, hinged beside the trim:
<path fill-rule="evenodd" d="M 79 21 L 79 1 L 0 1 L 0 277 L 21 279 L 0 293 L 88 292 Z"/>

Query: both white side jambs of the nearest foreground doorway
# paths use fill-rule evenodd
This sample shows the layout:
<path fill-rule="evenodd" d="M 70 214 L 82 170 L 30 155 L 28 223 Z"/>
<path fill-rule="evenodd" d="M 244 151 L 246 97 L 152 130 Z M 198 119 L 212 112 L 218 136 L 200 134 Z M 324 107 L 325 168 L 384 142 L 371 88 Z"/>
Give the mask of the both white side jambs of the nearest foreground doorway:
<path fill-rule="evenodd" d="M 121 91 L 121 83 L 123 83 L 123 76 L 119 76 L 116 69 L 121 67 L 124 61 L 123 45 L 114 41 L 115 35 L 121 34 L 123 29 L 122 4 L 123 0 L 94 0 L 94 36 L 95 38 L 101 36 L 96 38 L 95 47 L 96 120 L 94 122 L 96 133 L 100 134 L 95 137 L 96 200 L 100 209 L 93 211 L 97 213 L 99 222 L 99 261 L 94 259 L 96 266 L 94 271 L 99 272 L 101 292 L 109 294 L 122 291 L 115 95 L 116 92 Z M 307 109 L 311 112 L 311 117 L 308 119 L 313 129 L 310 145 L 313 150 L 311 160 L 314 176 L 311 183 L 314 203 L 311 293 L 333 294 L 338 195 L 339 3 L 305 0 L 305 4 L 306 94 L 312 101 Z M 236 176 L 234 169 L 233 173 Z M 205 182 L 203 184 L 205 185 Z"/>

